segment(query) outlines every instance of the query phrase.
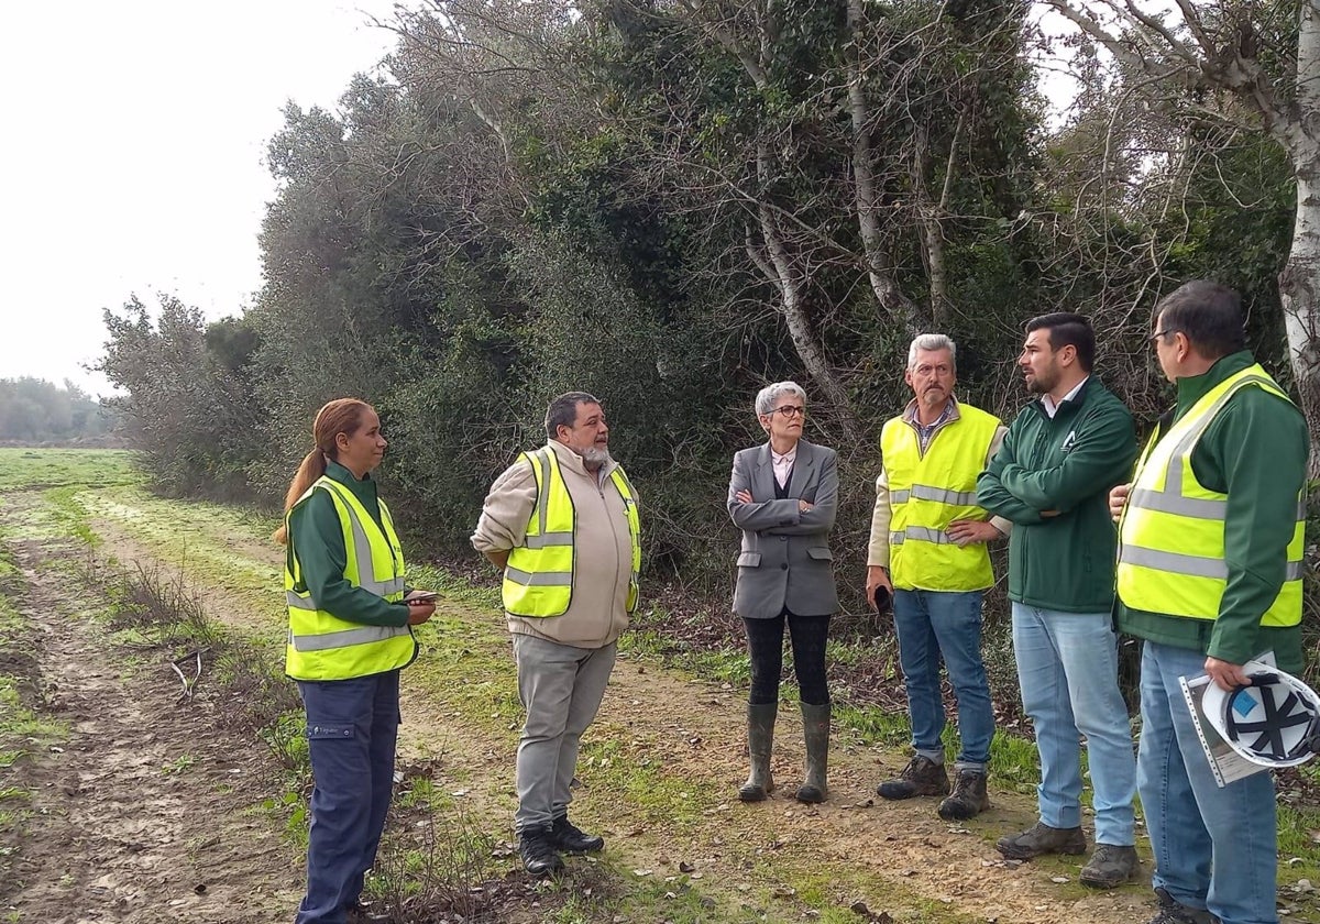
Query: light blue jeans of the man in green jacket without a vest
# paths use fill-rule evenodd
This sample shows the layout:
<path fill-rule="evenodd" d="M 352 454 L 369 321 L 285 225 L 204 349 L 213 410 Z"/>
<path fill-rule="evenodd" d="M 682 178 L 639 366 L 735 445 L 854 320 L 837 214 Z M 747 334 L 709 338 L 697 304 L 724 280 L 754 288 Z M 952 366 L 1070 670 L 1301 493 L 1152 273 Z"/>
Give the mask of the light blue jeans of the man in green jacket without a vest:
<path fill-rule="evenodd" d="M 1137 759 L 1118 690 L 1118 636 L 1109 612 L 1060 612 L 1014 602 L 1012 649 L 1022 706 L 1036 727 L 1040 820 L 1081 825 L 1081 735 L 1090 764 L 1096 842 L 1135 843 Z"/>

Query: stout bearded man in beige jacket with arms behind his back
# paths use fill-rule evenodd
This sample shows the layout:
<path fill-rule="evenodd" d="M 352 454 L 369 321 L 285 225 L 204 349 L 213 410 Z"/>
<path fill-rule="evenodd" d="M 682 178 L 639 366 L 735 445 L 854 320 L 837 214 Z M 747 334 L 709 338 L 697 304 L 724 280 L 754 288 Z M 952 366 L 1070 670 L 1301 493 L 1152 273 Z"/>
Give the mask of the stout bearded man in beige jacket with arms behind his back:
<path fill-rule="evenodd" d="M 517 693 L 519 853 L 527 871 L 564 869 L 560 851 L 605 840 L 568 818 L 578 743 L 595 718 L 615 644 L 638 605 L 638 494 L 610 457 L 610 428 L 586 392 L 545 412 L 546 445 L 523 453 L 491 486 L 473 546 L 504 572 Z"/>

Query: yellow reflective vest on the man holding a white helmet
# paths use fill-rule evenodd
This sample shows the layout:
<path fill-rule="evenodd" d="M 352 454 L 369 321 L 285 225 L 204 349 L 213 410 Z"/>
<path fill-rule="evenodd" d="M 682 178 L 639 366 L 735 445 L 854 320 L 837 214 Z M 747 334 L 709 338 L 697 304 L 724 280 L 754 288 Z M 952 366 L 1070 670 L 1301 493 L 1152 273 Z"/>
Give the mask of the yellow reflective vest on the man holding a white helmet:
<path fill-rule="evenodd" d="M 1125 606 L 1187 619 L 1218 618 L 1229 577 L 1224 548 L 1228 495 L 1197 482 L 1192 453 L 1216 414 L 1242 388 L 1263 388 L 1288 401 L 1274 379 L 1254 364 L 1203 395 L 1167 433 L 1151 434 L 1147 441 L 1119 523 L 1117 586 Z M 1262 626 L 1302 622 L 1304 531 L 1305 506 L 1299 495 L 1283 586 L 1262 615 Z"/>

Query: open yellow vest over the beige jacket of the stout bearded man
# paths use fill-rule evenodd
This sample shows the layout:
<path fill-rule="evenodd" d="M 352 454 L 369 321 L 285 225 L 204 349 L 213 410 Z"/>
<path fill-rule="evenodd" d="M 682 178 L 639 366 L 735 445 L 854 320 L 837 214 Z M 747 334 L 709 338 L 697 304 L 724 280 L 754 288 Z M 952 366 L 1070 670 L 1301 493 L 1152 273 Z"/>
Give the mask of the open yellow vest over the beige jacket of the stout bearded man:
<path fill-rule="evenodd" d="M 536 502 L 523 545 L 511 550 L 504 568 L 500 595 L 504 610 L 515 616 L 560 616 L 573 599 L 574 527 L 577 516 L 560 461 L 549 446 L 523 453 L 536 477 Z M 627 610 L 638 606 L 638 578 L 642 572 L 642 520 L 636 492 L 622 467 L 610 473 L 610 482 L 623 498 L 632 545 Z"/>

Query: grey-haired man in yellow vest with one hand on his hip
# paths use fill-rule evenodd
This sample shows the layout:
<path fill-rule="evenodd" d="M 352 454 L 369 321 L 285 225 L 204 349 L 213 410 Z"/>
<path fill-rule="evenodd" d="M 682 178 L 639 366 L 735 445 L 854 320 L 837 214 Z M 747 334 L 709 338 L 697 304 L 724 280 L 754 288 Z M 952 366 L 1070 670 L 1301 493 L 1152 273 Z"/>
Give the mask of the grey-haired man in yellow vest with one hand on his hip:
<path fill-rule="evenodd" d="M 920 334 L 908 348 L 904 380 L 913 397 L 880 433 L 866 557 L 867 602 L 878 611 L 894 602 L 915 751 L 902 775 L 876 792 L 884 799 L 946 796 L 937 810 L 949 821 L 990 805 L 994 711 L 981 660 L 981 599 L 994 583 L 986 543 L 1010 529 L 975 503 L 977 475 L 1007 430 L 994 414 L 953 397 L 956 352 L 944 334 Z M 940 741 L 941 657 L 957 694 L 962 739 L 952 795 Z"/>

